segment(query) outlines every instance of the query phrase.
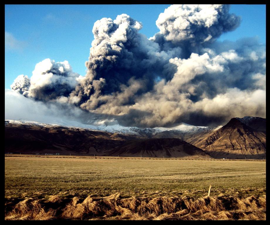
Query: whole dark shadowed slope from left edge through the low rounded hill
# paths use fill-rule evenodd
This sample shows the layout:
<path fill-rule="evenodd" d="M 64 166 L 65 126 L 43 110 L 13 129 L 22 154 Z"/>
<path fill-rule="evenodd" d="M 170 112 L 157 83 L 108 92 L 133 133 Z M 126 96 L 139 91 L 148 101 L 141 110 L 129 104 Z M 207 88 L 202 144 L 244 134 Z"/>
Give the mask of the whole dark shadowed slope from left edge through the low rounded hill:
<path fill-rule="evenodd" d="M 210 157 L 180 139 L 145 139 L 135 135 L 5 121 L 5 152 L 96 156 Z"/>

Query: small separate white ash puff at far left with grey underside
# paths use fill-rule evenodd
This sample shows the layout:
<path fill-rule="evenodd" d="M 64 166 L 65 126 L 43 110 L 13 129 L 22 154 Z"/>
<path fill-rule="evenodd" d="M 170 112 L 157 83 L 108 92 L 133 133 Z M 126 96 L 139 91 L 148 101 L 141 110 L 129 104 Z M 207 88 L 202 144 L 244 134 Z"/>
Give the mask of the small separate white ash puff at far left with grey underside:
<path fill-rule="evenodd" d="M 44 59 L 36 64 L 30 80 L 28 76 L 20 75 L 11 88 L 19 90 L 20 93 L 23 92 L 25 96 L 35 100 L 47 102 L 57 99 L 63 101 L 75 89 L 78 76 L 79 74 L 72 72 L 67 61 L 55 62 L 51 59 Z"/>

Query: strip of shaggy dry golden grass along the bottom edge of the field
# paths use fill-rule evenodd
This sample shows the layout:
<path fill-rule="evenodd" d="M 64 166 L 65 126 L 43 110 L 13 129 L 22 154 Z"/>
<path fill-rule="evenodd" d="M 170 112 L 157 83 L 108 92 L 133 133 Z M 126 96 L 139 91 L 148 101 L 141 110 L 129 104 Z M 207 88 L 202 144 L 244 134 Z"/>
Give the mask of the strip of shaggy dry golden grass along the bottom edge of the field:
<path fill-rule="evenodd" d="M 249 197 L 27 198 L 5 209 L 5 220 L 265 220 L 266 195 Z M 6 204 L 7 205 L 7 204 Z"/>

